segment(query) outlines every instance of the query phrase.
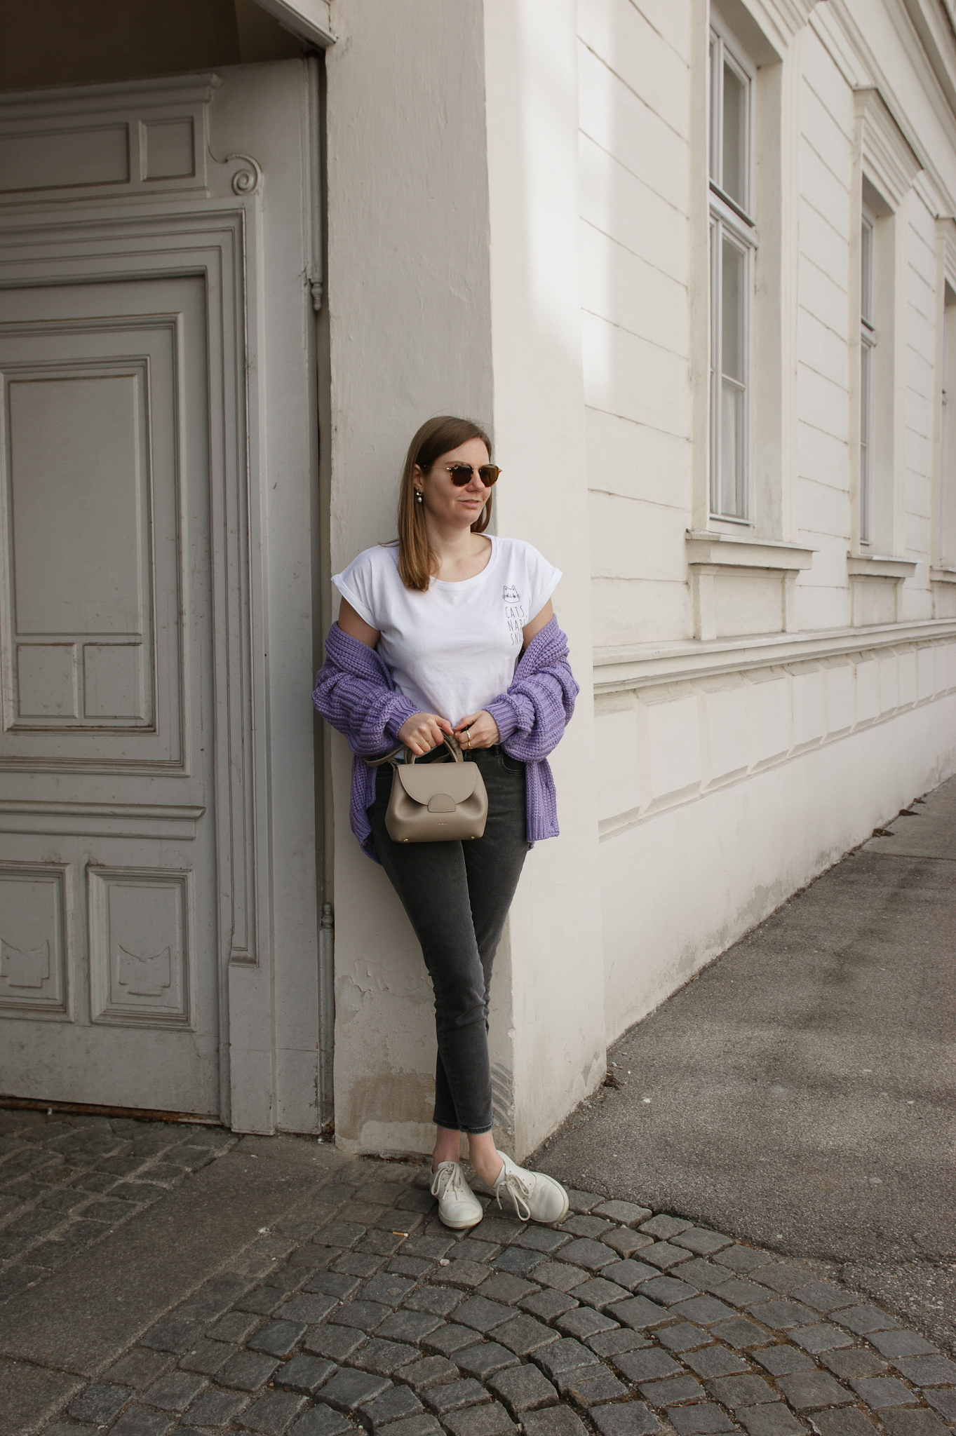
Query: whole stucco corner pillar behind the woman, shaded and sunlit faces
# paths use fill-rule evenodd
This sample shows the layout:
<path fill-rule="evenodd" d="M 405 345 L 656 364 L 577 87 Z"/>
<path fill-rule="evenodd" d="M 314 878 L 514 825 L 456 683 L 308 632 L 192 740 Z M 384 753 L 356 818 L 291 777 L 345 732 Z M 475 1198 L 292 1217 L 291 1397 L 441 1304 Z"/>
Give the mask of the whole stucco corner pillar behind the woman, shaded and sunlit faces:
<path fill-rule="evenodd" d="M 530 854 L 492 988 L 498 1136 L 527 1152 L 604 1071 L 584 534 L 577 75 L 570 3 L 336 4 L 327 59 L 332 567 L 395 533 L 431 414 L 489 425 L 497 528 L 564 573 L 583 679 L 556 760 L 563 836 Z M 385 875 L 349 833 L 332 737 L 336 1134 L 432 1143 L 432 995 Z"/>

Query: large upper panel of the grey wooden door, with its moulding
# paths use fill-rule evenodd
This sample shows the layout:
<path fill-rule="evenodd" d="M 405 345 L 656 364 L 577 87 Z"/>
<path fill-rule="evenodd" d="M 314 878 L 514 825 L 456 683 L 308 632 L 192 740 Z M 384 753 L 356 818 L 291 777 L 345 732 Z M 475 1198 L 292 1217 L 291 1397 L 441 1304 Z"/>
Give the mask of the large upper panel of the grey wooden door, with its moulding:
<path fill-rule="evenodd" d="M 201 303 L 198 280 L 7 294 L 6 314 L 33 306 L 53 322 L 0 330 L 1 758 L 185 761 L 177 442 L 184 424 L 207 425 L 181 414 L 177 369 L 204 372 L 202 335 L 175 312 L 106 317 L 169 302 L 169 284 Z"/>

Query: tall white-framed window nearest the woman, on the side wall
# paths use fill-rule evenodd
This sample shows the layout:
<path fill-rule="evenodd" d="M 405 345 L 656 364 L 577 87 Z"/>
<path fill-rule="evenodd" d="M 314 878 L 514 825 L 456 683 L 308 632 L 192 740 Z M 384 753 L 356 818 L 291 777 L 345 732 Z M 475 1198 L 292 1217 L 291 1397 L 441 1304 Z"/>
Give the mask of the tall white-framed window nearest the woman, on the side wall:
<path fill-rule="evenodd" d="M 756 228 L 754 76 L 732 39 L 711 30 L 711 513 L 746 523 Z"/>

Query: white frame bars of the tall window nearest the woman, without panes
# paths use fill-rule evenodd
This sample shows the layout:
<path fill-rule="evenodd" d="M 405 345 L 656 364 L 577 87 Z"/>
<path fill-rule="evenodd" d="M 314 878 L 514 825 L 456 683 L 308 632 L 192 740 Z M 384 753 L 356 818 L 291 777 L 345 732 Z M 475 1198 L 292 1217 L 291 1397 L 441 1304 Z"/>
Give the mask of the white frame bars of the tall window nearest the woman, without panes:
<path fill-rule="evenodd" d="M 744 86 L 745 115 L 742 141 L 745 154 L 741 161 L 744 204 L 729 195 L 723 185 L 723 73 L 725 65 Z M 754 488 L 754 326 L 755 326 L 755 271 L 758 251 L 758 230 L 752 214 L 754 207 L 754 96 L 756 72 L 739 42 L 723 26 L 719 17 L 711 22 L 708 50 L 708 200 L 709 200 L 709 319 L 711 319 L 711 462 L 708 508 L 713 523 L 752 527 Z M 744 297 L 741 329 L 744 335 L 741 391 L 744 393 L 744 421 L 741 425 L 741 480 L 735 480 L 734 511 L 722 511 L 722 349 L 723 349 L 723 247 L 731 244 L 744 256 Z"/>

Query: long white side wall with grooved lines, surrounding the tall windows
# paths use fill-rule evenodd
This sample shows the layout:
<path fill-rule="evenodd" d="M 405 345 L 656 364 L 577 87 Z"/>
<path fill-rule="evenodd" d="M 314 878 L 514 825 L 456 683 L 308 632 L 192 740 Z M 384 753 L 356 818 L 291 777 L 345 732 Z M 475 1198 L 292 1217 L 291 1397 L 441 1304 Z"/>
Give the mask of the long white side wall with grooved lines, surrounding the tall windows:
<path fill-rule="evenodd" d="M 798 65 L 795 129 L 781 145 L 784 161 L 792 152 L 795 174 L 784 174 L 779 188 L 785 194 L 795 184 L 798 195 L 794 538 L 812 550 L 812 561 L 797 576 L 794 633 L 778 639 L 759 638 L 781 626 L 774 576 L 745 583 L 732 569 L 715 570 L 728 597 L 718 609 L 718 640 L 702 645 L 692 639 L 685 530 L 695 527 L 695 484 L 706 472 L 692 408 L 702 385 L 706 393 L 706 296 L 693 261 L 700 129 L 692 103 L 705 83 L 703 46 L 693 40 L 706 6 L 584 0 L 578 7 L 609 1040 L 956 763 L 953 648 L 940 642 L 952 639 L 953 625 L 927 622 L 940 382 L 936 218 L 952 213 L 956 126 L 952 115 L 940 116 L 939 95 L 927 98 L 926 65 L 906 39 L 901 3 L 818 6 L 824 23 L 815 16 L 785 47 L 784 27 L 767 17 L 788 9 L 742 0 L 723 14 L 754 40 L 758 102 L 772 89 L 764 82 L 772 66 Z M 912 572 L 899 606 L 894 582 L 866 580 L 870 612 L 883 605 L 900 622 L 864 636 L 851 628 L 847 554 L 858 422 L 854 88 L 866 86 L 877 86 L 891 111 L 899 106 L 893 113 L 934 182 L 920 177 L 900 207 L 899 553 Z M 767 112 L 759 119 L 767 125 Z M 768 158 L 758 139 L 758 168 Z M 777 465 L 781 485 L 785 467 Z M 923 684 L 933 675 L 919 699 L 917 669 Z"/>

